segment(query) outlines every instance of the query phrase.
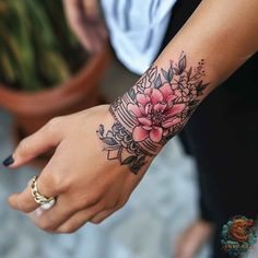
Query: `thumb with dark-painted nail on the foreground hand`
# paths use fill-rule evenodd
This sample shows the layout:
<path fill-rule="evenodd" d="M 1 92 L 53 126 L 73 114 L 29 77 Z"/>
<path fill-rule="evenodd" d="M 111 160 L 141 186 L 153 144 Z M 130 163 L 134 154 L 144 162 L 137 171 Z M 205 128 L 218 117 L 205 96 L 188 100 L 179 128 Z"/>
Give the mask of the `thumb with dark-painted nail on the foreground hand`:
<path fill-rule="evenodd" d="M 15 168 L 19 167 L 51 148 L 57 146 L 62 140 L 60 118 L 54 118 L 42 129 L 32 136 L 23 139 L 13 154 L 3 161 L 3 165 Z"/>

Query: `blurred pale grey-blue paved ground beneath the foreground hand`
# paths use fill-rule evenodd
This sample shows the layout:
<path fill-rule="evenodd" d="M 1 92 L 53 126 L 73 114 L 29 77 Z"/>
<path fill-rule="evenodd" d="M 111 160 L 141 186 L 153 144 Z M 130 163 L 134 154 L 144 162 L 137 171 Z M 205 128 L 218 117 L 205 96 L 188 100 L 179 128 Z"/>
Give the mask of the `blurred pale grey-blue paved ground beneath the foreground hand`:
<path fill-rule="evenodd" d="M 119 78 L 114 79 L 114 74 Z M 113 67 L 103 85 L 113 98 L 134 80 Z M 11 117 L 0 109 L 0 160 L 11 153 Z M 50 235 L 11 211 L 5 199 L 22 190 L 35 174 L 31 167 L 0 173 L 0 258 L 169 258 L 178 232 L 198 214 L 194 161 L 177 139 L 156 157 L 128 204 L 101 225 L 85 225 L 72 235 Z M 198 258 L 209 257 L 209 247 Z M 257 256 L 254 256 L 257 257 Z"/>

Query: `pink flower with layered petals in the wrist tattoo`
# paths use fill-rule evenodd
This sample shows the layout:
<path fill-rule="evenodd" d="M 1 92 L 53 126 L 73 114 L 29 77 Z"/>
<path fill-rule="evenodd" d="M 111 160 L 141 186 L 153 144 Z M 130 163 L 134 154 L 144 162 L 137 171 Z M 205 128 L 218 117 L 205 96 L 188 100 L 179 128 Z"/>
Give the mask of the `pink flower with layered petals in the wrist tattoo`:
<path fill-rule="evenodd" d="M 128 104 L 128 110 L 138 120 L 132 139 L 138 142 L 150 138 L 153 142 L 160 142 L 162 137 L 167 136 L 168 128 L 180 122 L 177 114 L 186 107 L 185 104 L 174 104 L 175 98 L 177 96 L 167 82 L 160 89 L 148 87 L 139 93 L 137 102 Z"/>

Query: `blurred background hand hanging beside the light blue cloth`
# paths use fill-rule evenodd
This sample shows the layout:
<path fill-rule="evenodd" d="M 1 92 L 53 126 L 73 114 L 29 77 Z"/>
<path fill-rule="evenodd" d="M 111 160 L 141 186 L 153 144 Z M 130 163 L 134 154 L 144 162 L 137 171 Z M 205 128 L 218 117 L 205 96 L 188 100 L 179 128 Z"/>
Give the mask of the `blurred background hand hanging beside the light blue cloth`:
<path fill-rule="evenodd" d="M 98 52 L 107 39 L 98 0 L 63 0 L 70 27 L 90 52 Z"/>

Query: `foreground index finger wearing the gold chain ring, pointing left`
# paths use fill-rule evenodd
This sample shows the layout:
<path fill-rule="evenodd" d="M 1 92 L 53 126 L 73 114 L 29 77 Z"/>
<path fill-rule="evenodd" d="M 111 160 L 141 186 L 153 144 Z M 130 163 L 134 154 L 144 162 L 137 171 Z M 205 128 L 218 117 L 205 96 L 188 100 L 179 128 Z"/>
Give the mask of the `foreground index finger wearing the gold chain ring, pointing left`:
<path fill-rule="evenodd" d="M 51 172 L 51 163 L 52 159 L 37 178 L 37 190 L 47 198 L 57 197 L 62 191 L 60 183 L 55 179 L 54 173 Z M 11 195 L 8 201 L 14 210 L 20 210 L 25 213 L 32 212 L 39 207 L 33 198 L 31 184 L 22 192 Z"/>

